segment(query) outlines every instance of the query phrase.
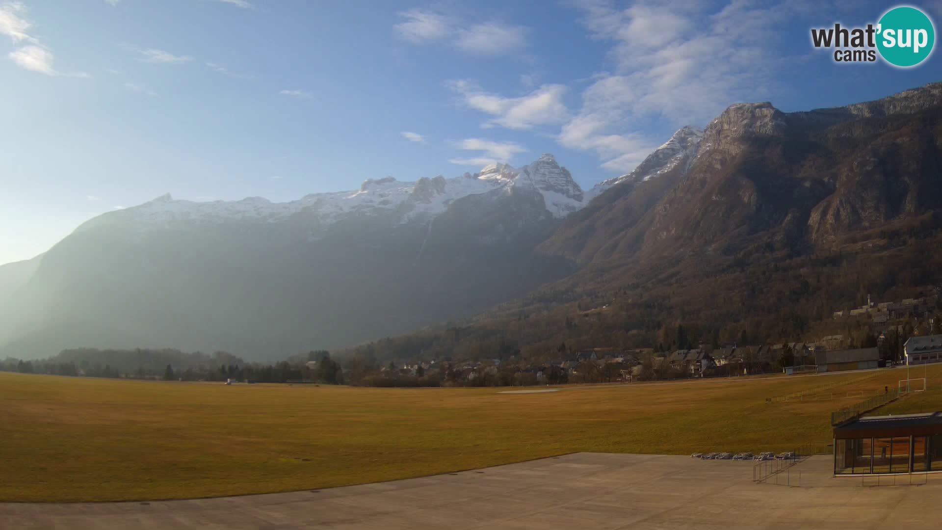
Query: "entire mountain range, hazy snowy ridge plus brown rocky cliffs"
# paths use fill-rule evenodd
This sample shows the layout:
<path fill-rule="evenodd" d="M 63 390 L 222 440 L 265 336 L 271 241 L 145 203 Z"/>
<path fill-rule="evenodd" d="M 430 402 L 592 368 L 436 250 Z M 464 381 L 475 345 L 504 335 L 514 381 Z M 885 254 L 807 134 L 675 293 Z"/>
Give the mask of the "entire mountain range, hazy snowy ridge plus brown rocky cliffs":
<path fill-rule="evenodd" d="M 165 195 L 0 267 L 0 353 L 278 358 L 499 315 L 512 300 L 538 299 L 530 311 L 572 302 L 580 286 L 630 290 L 668 266 L 814 256 L 873 230 L 934 229 L 940 96 L 934 83 L 843 108 L 733 105 L 592 190 L 544 155 L 281 204 Z"/>

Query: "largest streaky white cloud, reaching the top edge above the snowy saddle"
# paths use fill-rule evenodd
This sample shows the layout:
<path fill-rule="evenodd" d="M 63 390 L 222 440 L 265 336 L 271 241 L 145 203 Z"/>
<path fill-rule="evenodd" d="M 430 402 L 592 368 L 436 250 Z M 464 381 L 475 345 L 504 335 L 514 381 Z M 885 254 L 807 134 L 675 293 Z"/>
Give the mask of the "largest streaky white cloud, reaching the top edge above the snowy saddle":
<path fill-rule="evenodd" d="M 774 90 L 772 53 L 795 3 L 758 6 L 732 0 L 723 8 L 667 0 L 617 8 L 607 0 L 580 3 L 581 24 L 609 41 L 614 72 L 595 75 L 582 107 L 562 127 L 566 147 L 594 151 L 612 171 L 630 171 L 664 139 L 632 124 L 704 123 L 731 103 Z M 765 91 L 765 92 L 764 92 Z"/>

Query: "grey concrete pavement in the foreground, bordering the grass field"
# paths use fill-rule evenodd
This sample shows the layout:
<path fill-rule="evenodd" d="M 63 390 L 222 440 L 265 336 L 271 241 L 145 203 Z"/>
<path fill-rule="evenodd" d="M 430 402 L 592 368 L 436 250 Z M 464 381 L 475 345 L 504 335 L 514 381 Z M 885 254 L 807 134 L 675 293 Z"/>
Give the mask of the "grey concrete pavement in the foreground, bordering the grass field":
<path fill-rule="evenodd" d="M 910 529 L 938 528 L 942 521 L 942 475 L 929 475 L 922 486 L 862 487 L 860 478 L 832 478 L 830 456 L 814 456 L 790 471 L 793 484 L 801 471 L 802 486 L 788 487 L 753 483 L 752 466 L 580 453 L 319 491 L 0 504 L 0 528 Z"/>

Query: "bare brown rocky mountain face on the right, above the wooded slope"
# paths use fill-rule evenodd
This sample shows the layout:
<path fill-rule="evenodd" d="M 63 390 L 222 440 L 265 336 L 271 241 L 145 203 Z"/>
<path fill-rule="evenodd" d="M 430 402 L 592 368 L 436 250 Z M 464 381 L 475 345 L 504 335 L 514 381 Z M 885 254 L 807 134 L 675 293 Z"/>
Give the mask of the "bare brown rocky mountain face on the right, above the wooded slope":
<path fill-rule="evenodd" d="M 796 113 L 733 105 L 688 167 L 600 194 L 540 249 L 583 263 L 732 256 L 762 241 L 804 252 L 926 215 L 942 197 L 940 94 L 936 83 Z"/>

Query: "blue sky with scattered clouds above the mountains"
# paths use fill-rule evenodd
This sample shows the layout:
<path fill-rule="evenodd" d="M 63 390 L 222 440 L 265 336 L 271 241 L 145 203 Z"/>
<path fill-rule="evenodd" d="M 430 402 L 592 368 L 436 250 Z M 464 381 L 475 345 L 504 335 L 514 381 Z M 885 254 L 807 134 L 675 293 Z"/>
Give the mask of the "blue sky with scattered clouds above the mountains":
<path fill-rule="evenodd" d="M 286 201 L 544 152 L 589 188 L 732 103 L 942 80 L 938 53 L 901 70 L 811 47 L 894 5 L 0 0 L 0 263 L 166 192 Z"/>

